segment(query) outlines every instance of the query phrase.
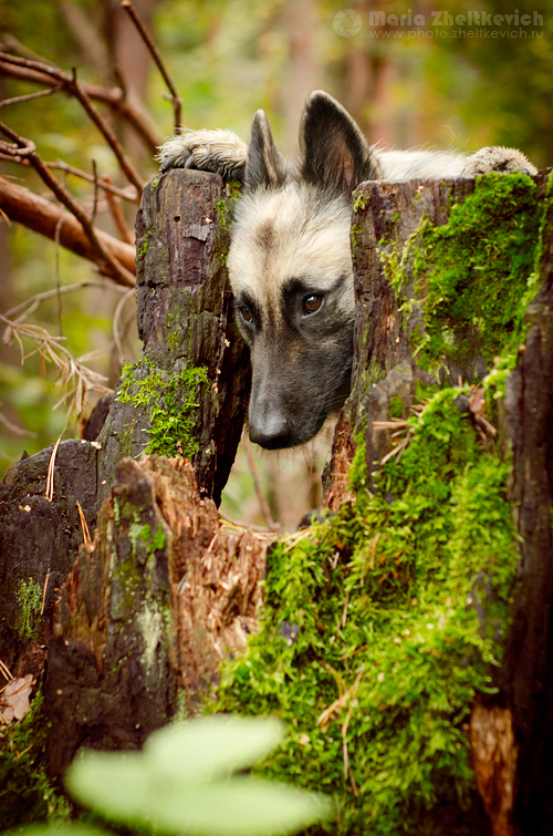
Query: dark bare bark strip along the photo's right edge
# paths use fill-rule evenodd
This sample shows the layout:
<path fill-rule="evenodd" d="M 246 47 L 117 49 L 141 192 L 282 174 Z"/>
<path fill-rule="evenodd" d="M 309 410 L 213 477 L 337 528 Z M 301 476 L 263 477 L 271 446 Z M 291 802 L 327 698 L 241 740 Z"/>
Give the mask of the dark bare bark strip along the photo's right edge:
<path fill-rule="evenodd" d="M 513 833 L 532 836 L 553 832 L 553 237 L 543 244 L 508 403 L 521 561 L 503 688 L 518 747 Z"/>

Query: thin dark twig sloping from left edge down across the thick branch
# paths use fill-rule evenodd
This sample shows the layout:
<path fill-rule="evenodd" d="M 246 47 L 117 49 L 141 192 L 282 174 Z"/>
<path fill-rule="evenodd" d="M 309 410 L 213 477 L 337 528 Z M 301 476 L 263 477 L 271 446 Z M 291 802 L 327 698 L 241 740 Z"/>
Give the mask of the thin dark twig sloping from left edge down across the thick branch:
<path fill-rule="evenodd" d="M 76 217 L 79 223 L 81 224 L 84 234 L 88 238 L 91 245 L 96 250 L 98 258 L 101 261 L 105 261 L 111 270 L 113 270 L 113 277 L 115 281 L 117 281 L 119 285 L 126 285 L 127 287 L 134 287 L 135 278 L 132 276 L 132 273 L 128 272 L 118 261 L 117 259 L 112 256 L 111 252 L 107 251 L 107 249 L 104 247 L 102 241 L 96 235 L 96 231 L 91 223 L 91 219 L 88 215 L 84 211 L 84 209 L 76 203 L 76 200 L 73 199 L 73 197 L 70 195 L 65 186 L 63 186 L 60 180 L 54 177 L 52 172 L 48 168 L 48 166 L 43 163 L 42 158 L 36 152 L 36 147 L 33 142 L 30 140 L 25 140 L 22 136 L 19 136 L 14 131 L 12 131 L 8 125 L 3 124 L 3 122 L 0 122 L 0 132 L 4 134 L 4 136 L 8 136 L 9 140 L 13 143 L 12 146 L 8 146 L 8 148 L 12 148 L 18 151 L 20 155 L 25 155 L 31 163 L 34 171 L 40 175 L 42 180 L 46 184 L 46 186 L 54 193 L 54 195 L 58 197 L 60 203 L 62 203 L 71 213 Z M 0 146 L 4 147 L 7 146 L 7 143 L 0 143 Z M 14 147 L 15 146 L 15 147 Z"/>

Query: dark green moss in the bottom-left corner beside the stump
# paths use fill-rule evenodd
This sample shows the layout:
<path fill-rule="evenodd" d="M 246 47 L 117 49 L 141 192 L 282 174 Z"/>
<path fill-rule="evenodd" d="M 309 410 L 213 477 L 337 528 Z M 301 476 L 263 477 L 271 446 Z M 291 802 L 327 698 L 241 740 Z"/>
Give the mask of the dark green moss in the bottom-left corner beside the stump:
<path fill-rule="evenodd" d="M 44 770 L 48 722 L 39 692 L 31 710 L 0 737 L 0 827 L 41 820 L 63 820 L 65 802 L 56 796 Z"/>

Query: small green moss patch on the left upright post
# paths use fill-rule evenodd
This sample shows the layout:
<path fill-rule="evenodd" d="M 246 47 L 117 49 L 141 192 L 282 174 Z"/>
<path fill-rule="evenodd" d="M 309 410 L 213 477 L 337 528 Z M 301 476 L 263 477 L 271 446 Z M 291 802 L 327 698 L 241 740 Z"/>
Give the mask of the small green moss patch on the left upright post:
<path fill-rule="evenodd" d="M 148 358 L 125 364 L 118 400 L 148 412 L 147 453 L 190 458 L 198 451 L 195 434 L 200 386 L 209 383 L 204 367 L 167 372 Z"/>

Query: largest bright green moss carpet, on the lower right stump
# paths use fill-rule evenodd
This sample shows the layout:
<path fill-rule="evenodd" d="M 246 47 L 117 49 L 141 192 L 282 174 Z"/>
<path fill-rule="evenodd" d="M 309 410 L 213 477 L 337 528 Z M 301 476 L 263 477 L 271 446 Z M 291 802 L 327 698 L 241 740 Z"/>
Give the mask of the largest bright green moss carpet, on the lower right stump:
<path fill-rule="evenodd" d="M 359 444 L 356 504 L 275 546 L 260 631 L 223 670 L 215 710 L 288 723 L 263 773 L 334 793 L 332 833 L 411 834 L 474 791 L 467 722 L 492 689 L 518 550 L 509 465 L 459 410 L 467 392 L 434 391 L 377 493 Z"/>

